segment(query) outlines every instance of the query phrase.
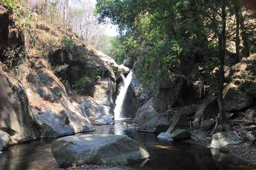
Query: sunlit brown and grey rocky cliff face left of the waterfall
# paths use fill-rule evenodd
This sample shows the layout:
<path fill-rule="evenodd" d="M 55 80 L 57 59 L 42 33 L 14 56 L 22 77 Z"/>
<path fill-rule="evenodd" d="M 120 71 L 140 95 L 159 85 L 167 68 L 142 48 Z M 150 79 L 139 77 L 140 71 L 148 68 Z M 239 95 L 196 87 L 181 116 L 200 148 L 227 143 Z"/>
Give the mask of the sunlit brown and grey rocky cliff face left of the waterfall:
<path fill-rule="evenodd" d="M 17 21 L 9 19 L 2 6 L 0 20 L 1 45 L 25 47 L 23 32 L 14 24 Z M 23 62 L 12 65 L 6 63 L 7 56 L 1 51 L 0 150 L 30 139 L 93 131 L 92 124 L 113 123 L 118 65 L 94 49 L 75 47 L 53 50 L 49 61 L 26 55 Z M 74 87 L 83 77 L 91 81 Z"/>

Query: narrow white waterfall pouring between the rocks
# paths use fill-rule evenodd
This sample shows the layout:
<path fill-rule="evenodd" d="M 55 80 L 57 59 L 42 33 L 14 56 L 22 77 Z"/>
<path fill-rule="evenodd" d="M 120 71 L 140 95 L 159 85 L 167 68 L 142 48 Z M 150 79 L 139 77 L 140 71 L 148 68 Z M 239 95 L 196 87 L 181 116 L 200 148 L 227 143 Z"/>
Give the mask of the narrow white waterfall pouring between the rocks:
<path fill-rule="evenodd" d="M 122 83 L 122 86 L 120 88 L 119 95 L 116 98 L 116 107 L 115 107 L 115 120 L 122 119 L 122 106 L 124 102 L 124 97 L 126 95 L 126 91 L 129 87 L 129 84 L 132 81 L 132 71 L 127 75 L 126 78 L 124 78 L 124 75 L 122 74 L 122 78 L 124 79 L 124 82 Z"/>

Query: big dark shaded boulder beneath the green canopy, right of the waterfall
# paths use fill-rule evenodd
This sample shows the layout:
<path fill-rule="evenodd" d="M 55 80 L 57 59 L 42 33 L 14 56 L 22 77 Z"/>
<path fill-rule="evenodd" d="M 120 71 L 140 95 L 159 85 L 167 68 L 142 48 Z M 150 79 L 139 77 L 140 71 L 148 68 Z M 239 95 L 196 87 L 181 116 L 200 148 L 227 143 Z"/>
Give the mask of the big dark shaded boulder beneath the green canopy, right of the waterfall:
<path fill-rule="evenodd" d="M 190 81 L 183 75 L 166 73 L 159 83 L 154 108 L 160 112 L 166 112 L 168 108 L 182 106 L 183 98 L 191 86 Z"/>

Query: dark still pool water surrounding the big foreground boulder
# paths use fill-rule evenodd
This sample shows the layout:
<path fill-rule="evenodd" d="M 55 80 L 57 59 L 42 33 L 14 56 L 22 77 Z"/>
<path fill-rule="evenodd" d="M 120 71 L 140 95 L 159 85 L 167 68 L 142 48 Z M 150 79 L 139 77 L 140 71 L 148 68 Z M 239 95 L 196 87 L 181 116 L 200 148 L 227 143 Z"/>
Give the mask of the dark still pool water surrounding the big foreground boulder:
<path fill-rule="evenodd" d="M 127 135 L 144 143 L 149 151 L 150 159 L 129 166 L 138 170 L 256 169 L 256 165 L 250 165 L 231 154 L 219 152 L 218 149 L 184 142 L 163 141 L 157 139 L 157 134 L 154 133 L 128 130 L 122 120 L 115 121 L 114 125 L 95 126 L 95 131 L 80 134 L 102 133 Z M 58 167 L 50 149 L 51 142 L 55 139 L 38 139 L 9 147 L 0 154 L 0 169 L 53 169 Z"/>

